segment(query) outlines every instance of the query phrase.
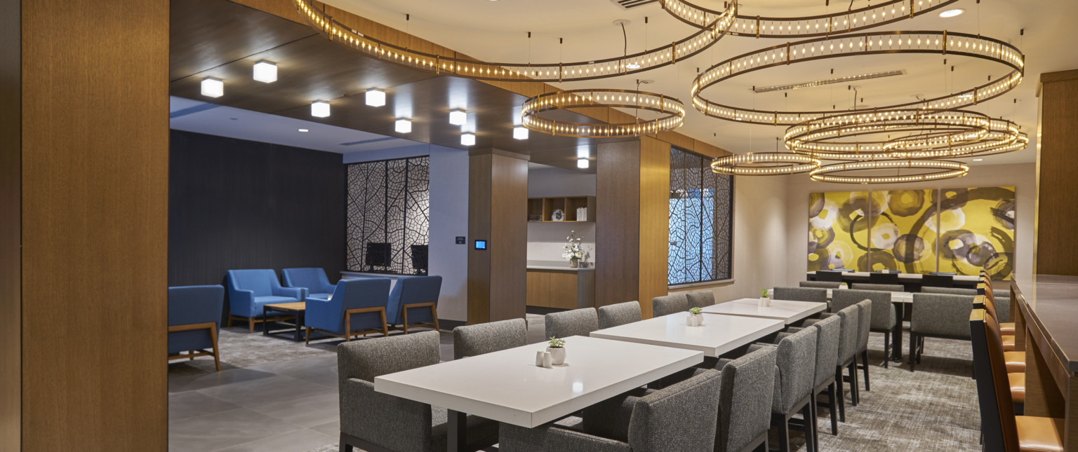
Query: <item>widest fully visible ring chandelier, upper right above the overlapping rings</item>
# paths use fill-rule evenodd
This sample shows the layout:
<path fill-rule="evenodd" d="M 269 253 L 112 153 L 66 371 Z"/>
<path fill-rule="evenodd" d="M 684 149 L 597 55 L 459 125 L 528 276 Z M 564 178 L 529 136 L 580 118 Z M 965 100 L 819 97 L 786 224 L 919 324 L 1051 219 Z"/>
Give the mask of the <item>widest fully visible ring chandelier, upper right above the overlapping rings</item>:
<path fill-rule="evenodd" d="M 1006 42 L 976 34 L 948 31 L 884 31 L 812 39 L 750 52 L 711 66 L 693 80 L 692 104 L 701 113 L 727 121 L 749 124 L 791 126 L 807 119 L 833 115 L 833 111 L 763 111 L 730 107 L 705 99 L 702 91 L 724 80 L 776 66 L 875 54 L 941 54 L 963 55 L 998 62 L 1012 71 L 975 88 L 915 101 L 874 109 L 846 110 L 845 113 L 869 113 L 904 107 L 953 110 L 973 105 L 1007 93 L 1022 82 L 1025 57 Z"/>

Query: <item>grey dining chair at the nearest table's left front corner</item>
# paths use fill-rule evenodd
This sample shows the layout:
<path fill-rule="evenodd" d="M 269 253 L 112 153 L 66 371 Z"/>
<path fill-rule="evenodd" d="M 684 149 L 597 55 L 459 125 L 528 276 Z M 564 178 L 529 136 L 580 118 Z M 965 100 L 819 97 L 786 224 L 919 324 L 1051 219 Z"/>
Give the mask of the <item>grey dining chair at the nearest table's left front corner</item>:
<path fill-rule="evenodd" d="M 374 392 L 374 378 L 438 364 L 439 333 L 423 331 L 337 345 L 341 450 L 442 452 L 447 444 L 447 412 Z M 498 424 L 467 416 L 471 450 L 498 441 Z"/>

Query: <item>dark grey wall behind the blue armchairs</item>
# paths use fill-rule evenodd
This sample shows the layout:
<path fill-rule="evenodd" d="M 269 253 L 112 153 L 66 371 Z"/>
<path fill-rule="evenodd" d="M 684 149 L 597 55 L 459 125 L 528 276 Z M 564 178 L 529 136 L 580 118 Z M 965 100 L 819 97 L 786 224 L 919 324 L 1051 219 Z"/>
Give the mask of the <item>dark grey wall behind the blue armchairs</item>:
<path fill-rule="evenodd" d="M 224 284 L 226 270 L 245 268 L 340 278 L 341 154 L 179 130 L 169 152 L 168 285 Z"/>

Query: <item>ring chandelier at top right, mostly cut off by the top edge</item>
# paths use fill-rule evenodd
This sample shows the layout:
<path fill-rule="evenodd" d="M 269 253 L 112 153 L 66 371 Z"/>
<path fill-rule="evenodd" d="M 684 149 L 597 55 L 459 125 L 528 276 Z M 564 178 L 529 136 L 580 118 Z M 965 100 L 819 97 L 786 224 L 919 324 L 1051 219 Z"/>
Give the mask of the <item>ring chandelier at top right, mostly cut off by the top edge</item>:
<path fill-rule="evenodd" d="M 958 0 L 890 0 L 857 10 L 805 17 L 761 17 L 737 14 L 727 34 L 752 38 L 808 38 L 867 30 L 935 11 Z M 661 0 L 667 13 L 699 28 L 725 14 L 685 0 Z M 729 11 L 729 8 L 728 8 Z"/>

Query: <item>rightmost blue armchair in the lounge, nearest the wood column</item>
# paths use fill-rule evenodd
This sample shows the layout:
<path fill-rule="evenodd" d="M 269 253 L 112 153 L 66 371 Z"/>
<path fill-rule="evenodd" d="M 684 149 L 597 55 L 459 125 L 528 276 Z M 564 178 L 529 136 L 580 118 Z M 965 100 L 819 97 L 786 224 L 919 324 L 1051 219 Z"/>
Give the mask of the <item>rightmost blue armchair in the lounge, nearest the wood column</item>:
<path fill-rule="evenodd" d="M 390 324 L 402 325 L 404 334 L 409 327 L 438 327 L 438 295 L 442 292 L 442 277 L 400 278 L 389 293 L 386 312 Z M 426 309 L 425 309 L 426 308 Z"/>

